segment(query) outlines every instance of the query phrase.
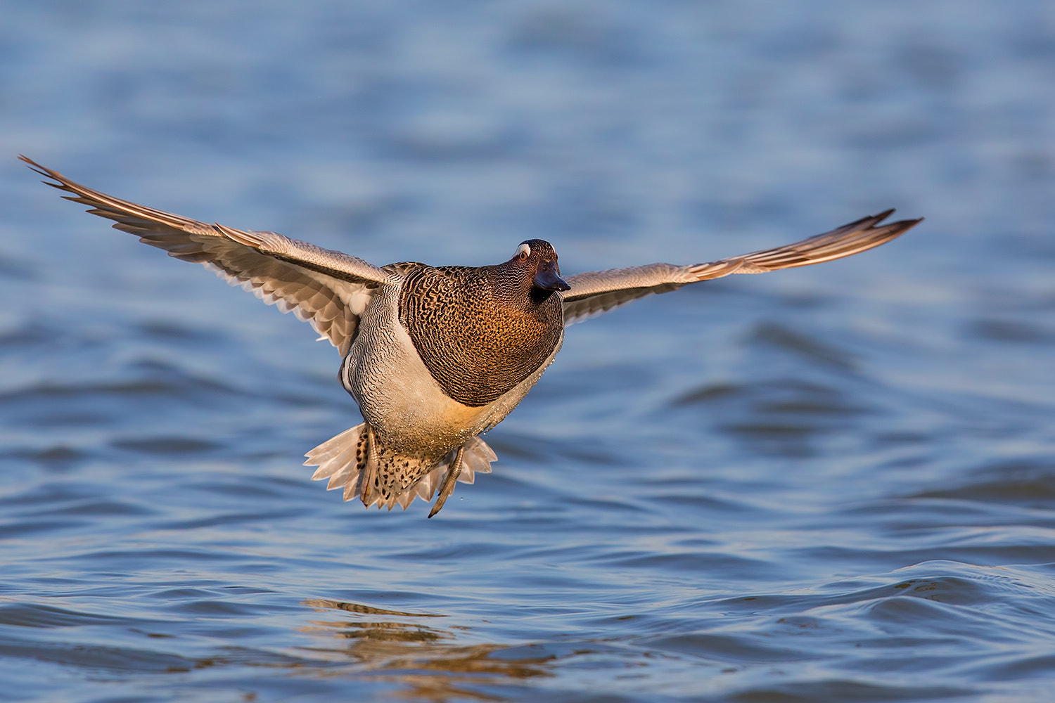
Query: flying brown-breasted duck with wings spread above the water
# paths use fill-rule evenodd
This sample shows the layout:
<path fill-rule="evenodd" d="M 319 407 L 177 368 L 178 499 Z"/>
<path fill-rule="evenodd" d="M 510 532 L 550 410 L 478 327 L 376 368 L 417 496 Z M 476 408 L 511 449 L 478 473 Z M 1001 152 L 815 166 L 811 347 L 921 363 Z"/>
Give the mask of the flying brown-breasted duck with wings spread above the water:
<path fill-rule="evenodd" d="M 311 476 L 364 506 L 436 501 L 490 473 L 498 457 L 480 435 L 501 423 L 560 351 L 564 329 L 632 300 L 731 274 L 811 266 L 886 243 L 922 221 L 862 217 L 791 245 L 705 263 L 650 263 L 562 276 L 543 239 L 520 242 L 493 266 L 377 267 L 275 232 L 239 230 L 121 200 L 19 157 L 169 256 L 199 263 L 337 348 L 339 378 L 363 422 L 308 451 Z"/>

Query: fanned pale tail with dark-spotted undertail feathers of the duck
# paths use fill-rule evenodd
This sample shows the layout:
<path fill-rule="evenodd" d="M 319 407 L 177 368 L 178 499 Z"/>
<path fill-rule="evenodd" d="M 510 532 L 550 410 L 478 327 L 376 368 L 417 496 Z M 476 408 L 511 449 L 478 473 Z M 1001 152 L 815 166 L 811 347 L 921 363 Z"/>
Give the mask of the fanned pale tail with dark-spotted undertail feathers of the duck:
<path fill-rule="evenodd" d="M 311 479 L 322 481 L 329 479 L 326 490 L 344 489 L 344 500 L 350 501 L 362 494 L 361 479 L 367 469 L 370 458 L 366 423 L 357 425 L 335 437 L 324 442 L 305 456 L 305 466 L 318 466 Z M 415 458 L 373 443 L 376 449 L 376 466 L 372 479 L 368 477 L 371 488 L 365 503 L 379 508 L 387 506 L 389 510 L 398 503 L 404 509 L 414 499 L 420 497 L 426 503 L 433 500 L 437 487 L 450 468 L 458 450 L 452 451 L 438 463 L 423 458 Z M 461 473 L 458 483 L 472 484 L 476 473 L 491 473 L 491 463 L 498 456 L 482 440 L 472 437 L 465 443 L 462 456 Z"/>

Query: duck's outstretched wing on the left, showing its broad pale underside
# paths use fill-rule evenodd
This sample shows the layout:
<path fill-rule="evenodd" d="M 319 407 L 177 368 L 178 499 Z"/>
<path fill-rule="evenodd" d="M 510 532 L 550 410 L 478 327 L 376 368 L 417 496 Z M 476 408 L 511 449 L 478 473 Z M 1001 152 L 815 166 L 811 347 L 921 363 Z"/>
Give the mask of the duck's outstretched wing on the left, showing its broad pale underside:
<path fill-rule="evenodd" d="M 88 212 L 116 220 L 115 229 L 139 235 L 139 241 L 169 256 L 202 263 L 232 286 L 241 285 L 268 305 L 292 312 L 338 348 L 341 355 L 356 336 L 359 315 L 379 286 L 392 275 L 366 261 L 290 239 L 274 232 L 207 224 L 84 188 L 57 171 L 20 156 L 44 181 L 72 193 L 62 196 L 91 206 Z"/>

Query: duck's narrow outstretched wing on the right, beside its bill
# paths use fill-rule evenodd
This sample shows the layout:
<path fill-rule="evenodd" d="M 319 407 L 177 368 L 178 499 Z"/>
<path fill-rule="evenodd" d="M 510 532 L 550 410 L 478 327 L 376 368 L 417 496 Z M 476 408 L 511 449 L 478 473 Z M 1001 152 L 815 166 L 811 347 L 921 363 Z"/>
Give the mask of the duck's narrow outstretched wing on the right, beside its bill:
<path fill-rule="evenodd" d="M 921 217 L 880 224 L 893 212 L 887 210 L 871 217 L 862 217 L 838 230 L 793 245 L 708 263 L 651 263 L 569 276 L 567 280 L 572 289 L 562 294 L 564 326 L 608 312 L 646 295 L 676 291 L 686 284 L 721 278 L 732 273 L 764 273 L 851 256 L 900 236 L 923 219 Z"/>

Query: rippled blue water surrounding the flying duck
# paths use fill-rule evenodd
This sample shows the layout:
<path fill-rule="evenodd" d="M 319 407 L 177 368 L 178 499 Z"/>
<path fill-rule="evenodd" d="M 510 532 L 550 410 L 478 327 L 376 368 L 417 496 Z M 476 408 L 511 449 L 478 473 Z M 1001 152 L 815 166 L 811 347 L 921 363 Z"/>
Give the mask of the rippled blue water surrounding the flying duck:
<path fill-rule="evenodd" d="M 0 700 L 1050 701 L 1055 5 L 0 3 Z M 845 261 L 569 329 L 434 520 L 311 330 L 60 200 L 376 263 Z"/>

